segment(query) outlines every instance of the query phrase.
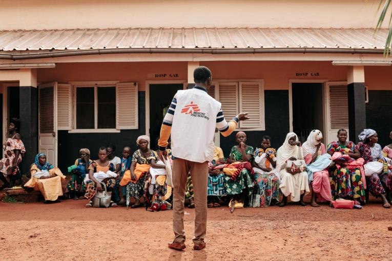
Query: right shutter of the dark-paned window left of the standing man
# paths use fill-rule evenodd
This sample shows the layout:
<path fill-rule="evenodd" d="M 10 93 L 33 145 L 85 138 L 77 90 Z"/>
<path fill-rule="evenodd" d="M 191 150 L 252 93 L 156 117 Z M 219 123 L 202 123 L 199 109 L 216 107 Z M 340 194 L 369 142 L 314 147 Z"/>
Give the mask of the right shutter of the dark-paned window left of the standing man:
<path fill-rule="evenodd" d="M 137 83 L 116 84 L 116 128 L 138 128 L 138 92 Z"/>

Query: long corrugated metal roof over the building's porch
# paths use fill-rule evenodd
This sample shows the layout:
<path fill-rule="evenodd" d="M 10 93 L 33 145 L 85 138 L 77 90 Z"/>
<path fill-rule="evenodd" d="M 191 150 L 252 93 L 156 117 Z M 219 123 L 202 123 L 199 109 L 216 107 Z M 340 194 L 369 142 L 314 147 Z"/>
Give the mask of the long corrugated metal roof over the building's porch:
<path fill-rule="evenodd" d="M 123 48 L 384 49 L 386 33 L 386 29 L 375 33 L 374 29 L 312 28 L 18 30 L 0 31 L 0 52 Z"/>

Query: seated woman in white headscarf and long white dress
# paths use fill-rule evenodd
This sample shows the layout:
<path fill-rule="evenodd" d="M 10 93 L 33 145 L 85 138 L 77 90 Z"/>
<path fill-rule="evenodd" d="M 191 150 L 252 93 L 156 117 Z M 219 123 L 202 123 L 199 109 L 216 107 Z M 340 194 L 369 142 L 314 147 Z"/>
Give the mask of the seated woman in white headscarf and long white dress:
<path fill-rule="evenodd" d="M 287 204 L 287 197 L 290 195 L 291 201 L 299 202 L 301 206 L 306 206 L 303 201 L 305 192 L 310 192 L 309 184 L 307 182 L 307 172 L 302 171 L 296 174 L 291 174 L 286 170 L 287 160 L 302 160 L 302 146 L 298 141 L 295 133 L 288 133 L 284 143 L 277 151 L 277 168 L 281 169 L 279 188 L 283 193 L 283 200 L 279 207 L 284 207 Z"/>

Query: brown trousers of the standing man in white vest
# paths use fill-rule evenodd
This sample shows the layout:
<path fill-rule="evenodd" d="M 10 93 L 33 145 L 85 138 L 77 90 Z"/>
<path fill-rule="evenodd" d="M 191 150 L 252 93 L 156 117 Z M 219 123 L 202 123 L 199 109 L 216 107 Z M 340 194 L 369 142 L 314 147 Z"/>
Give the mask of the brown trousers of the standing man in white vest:
<path fill-rule="evenodd" d="M 199 163 L 176 158 L 173 161 L 173 231 L 174 241 L 185 241 L 184 200 L 188 173 L 191 172 L 195 197 L 195 237 L 193 242 L 204 241 L 207 231 L 208 162 Z"/>

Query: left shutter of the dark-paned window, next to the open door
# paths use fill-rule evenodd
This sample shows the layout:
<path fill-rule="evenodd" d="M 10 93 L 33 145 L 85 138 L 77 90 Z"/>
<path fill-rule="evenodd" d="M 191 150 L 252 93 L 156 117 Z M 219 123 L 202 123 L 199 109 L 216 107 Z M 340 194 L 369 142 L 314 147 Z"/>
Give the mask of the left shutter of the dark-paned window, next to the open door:
<path fill-rule="evenodd" d="M 57 84 L 57 129 L 72 129 L 71 84 Z"/>

